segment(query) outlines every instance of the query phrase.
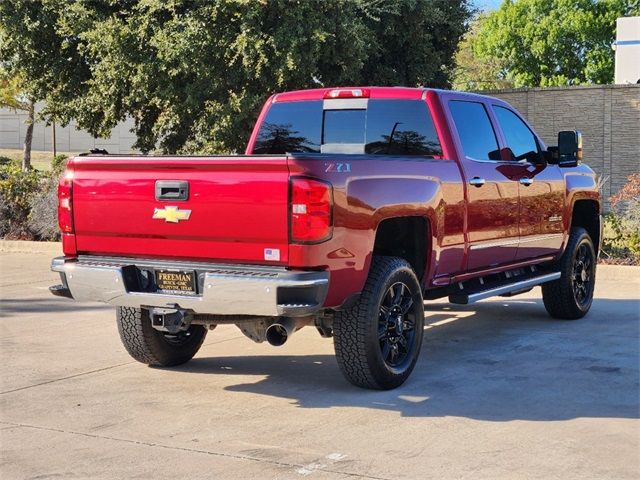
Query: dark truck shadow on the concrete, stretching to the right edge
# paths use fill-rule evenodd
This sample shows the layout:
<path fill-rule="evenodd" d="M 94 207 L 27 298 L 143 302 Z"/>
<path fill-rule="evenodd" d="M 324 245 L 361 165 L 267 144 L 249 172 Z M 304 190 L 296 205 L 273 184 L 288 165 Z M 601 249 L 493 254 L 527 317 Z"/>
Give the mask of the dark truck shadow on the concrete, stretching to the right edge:
<path fill-rule="evenodd" d="M 291 399 L 301 408 L 490 421 L 640 417 L 638 300 L 596 300 L 577 322 L 549 318 L 534 299 L 425 308 L 420 359 L 392 391 L 352 387 L 333 355 L 196 357 L 180 369 L 262 376 L 225 390 Z"/>

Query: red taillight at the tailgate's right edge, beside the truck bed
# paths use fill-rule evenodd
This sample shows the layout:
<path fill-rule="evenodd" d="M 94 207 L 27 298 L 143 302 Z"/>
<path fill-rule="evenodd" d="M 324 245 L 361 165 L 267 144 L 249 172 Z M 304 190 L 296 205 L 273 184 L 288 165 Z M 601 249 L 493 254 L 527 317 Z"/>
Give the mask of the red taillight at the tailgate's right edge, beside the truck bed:
<path fill-rule="evenodd" d="M 331 237 L 331 185 L 308 178 L 291 179 L 291 241 L 318 243 Z"/>

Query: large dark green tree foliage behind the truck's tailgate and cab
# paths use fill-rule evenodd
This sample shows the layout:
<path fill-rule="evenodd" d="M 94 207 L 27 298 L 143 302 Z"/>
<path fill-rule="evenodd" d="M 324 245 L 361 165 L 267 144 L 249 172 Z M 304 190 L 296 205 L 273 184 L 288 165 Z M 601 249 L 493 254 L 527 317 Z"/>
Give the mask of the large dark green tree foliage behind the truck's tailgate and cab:
<path fill-rule="evenodd" d="M 276 91 L 449 83 L 468 0 L 4 0 L 0 58 L 45 115 L 136 147 L 240 151 Z M 41 97 L 42 95 L 42 97 Z"/>

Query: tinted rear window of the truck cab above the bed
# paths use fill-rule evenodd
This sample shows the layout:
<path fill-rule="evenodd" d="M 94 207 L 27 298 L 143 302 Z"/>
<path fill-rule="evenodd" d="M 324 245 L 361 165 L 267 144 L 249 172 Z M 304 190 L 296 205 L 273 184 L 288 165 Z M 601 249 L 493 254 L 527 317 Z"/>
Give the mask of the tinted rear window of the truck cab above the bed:
<path fill-rule="evenodd" d="M 441 156 L 442 148 L 422 101 L 369 100 L 359 108 L 331 102 L 274 103 L 260 127 L 256 154 L 367 153 Z"/>

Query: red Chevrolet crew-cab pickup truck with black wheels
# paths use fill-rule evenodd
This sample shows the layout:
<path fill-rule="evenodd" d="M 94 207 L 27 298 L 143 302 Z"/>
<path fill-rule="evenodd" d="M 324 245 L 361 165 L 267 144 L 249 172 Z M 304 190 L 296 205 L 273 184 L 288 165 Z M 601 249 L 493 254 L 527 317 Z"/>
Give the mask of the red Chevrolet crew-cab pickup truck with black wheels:
<path fill-rule="evenodd" d="M 266 102 L 245 155 L 81 155 L 59 186 L 52 293 L 117 307 L 155 366 L 235 324 L 282 345 L 333 337 L 355 385 L 402 384 L 424 300 L 542 286 L 554 318 L 591 306 L 601 200 L 579 132 L 547 147 L 507 103 L 428 88 L 323 88 Z"/>

